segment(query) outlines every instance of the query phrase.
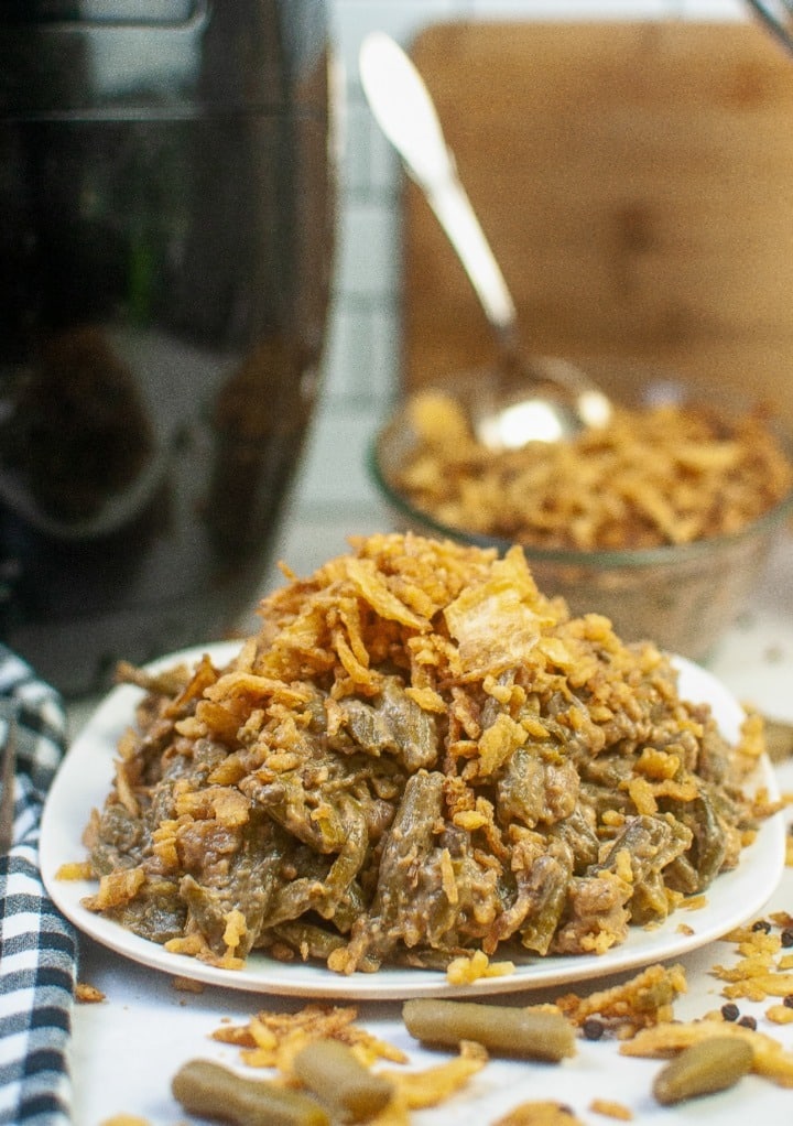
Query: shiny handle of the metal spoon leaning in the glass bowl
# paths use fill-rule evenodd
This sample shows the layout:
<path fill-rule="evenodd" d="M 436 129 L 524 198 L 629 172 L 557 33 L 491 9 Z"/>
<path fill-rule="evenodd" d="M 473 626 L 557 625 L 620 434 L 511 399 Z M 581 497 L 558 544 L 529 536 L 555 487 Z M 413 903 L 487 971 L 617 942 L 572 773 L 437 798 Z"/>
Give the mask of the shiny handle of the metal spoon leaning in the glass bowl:
<path fill-rule="evenodd" d="M 515 304 L 460 181 L 424 80 L 402 47 L 381 32 L 366 37 L 359 63 L 378 125 L 423 190 L 505 352 L 515 354 Z"/>

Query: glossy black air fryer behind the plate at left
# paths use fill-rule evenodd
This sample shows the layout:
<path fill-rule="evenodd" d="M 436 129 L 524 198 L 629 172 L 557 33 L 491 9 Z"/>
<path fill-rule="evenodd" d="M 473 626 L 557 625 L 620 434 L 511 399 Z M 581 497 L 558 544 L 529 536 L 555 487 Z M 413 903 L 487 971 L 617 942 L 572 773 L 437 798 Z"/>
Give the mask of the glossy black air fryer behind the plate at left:
<path fill-rule="evenodd" d="M 322 0 L 0 5 L 0 638 L 67 695 L 222 636 L 317 390 Z"/>

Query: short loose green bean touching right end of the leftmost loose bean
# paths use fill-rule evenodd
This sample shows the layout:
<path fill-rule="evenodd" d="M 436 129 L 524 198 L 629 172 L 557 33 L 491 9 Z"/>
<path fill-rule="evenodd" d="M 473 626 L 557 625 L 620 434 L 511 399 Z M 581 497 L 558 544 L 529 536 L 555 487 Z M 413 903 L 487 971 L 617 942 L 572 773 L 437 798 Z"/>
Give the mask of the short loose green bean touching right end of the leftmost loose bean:
<path fill-rule="evenodd" d="M 376 1075 L 339 1040 L 312 1040 L 292 1061 L 301 1083 L 318 1094 L 334 1117 L 359 1123 L 390 1102 L 394 1084 Z"/>

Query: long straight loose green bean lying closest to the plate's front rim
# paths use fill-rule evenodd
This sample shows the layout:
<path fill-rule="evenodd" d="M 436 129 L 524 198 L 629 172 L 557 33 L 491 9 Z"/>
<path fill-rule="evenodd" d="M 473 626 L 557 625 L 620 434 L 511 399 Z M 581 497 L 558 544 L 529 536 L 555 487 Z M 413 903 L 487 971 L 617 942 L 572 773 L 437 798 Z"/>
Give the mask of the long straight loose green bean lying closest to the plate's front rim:
<path fill-rule="evenodd" d="M 439 1047 L 475 1040 L 496 1055 L 552 1063 L 576 1051 L 573 1025 L 560 1012 L 420 999 L 406 1001 L 402 1015 L 412 1036 Z"/>

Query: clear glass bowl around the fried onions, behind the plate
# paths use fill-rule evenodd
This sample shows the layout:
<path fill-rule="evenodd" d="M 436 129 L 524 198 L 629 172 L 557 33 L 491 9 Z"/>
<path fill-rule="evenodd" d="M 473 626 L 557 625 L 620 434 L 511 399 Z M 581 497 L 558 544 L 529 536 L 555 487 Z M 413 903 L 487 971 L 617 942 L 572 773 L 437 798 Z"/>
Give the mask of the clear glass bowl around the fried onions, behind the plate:
<path fill-rule="evenodd" d="M 712 385 L 666 372 L 618 364 L 587 367 L 615 402 L 629 406 L 714 400 Z M 451 393 L 469 417 L 475 402 L 493 397 L 494 386 L 487 372 L 433 383 Z M 733 392 L 720 390 L 718 399 L 728 415 L 749 405 Z M 775 432 L 790 456 L 790 437 L 776 427 Z M 512 545 L 510 540 L 448 526 L 416 508 L 399 490 L 396 481 L 417 441 L 405 401 L 369 449 L 369 472 L 395 527 L 503 553 Z M 549 597 L 562 596 L 574 615 L 603 614 L 623 641 L 650 640 L 664 650 L 702 661 L 746 607 L 792 515 L 793 488 L 762 517 L 729 535 L 648 548 L 549 549 L 526 543 L 522 547 L 540 590 Z"/>

